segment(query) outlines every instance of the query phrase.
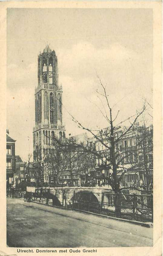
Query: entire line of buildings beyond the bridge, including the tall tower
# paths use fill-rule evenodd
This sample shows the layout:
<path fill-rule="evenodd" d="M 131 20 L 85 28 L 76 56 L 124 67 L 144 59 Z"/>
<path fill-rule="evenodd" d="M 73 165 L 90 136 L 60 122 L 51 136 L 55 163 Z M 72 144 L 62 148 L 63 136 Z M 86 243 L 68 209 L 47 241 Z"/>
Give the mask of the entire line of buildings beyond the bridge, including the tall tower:
<path fill-rule="evenodd" d="M 15 156 L 15 140 L 7 131 L 7 183 L 31 185 L 108 185 L 112 180 L 110 129 L 89 138 L 87 133 L 66 138 L 58 59 L 46 45 L 38 55 L 35 89 L 33 162 Z M 114 129 L 115 155 L 121 186 L 149 184 L 153 174 L 153 127 L 134 124 Z M 79 146 L 80 145 L 80 146 Z M 83 151 L 81 150 L 83 149 Z M 125 171 L 125 173 L 124 173 Z M 124 173 L 124 175 L 122 175 Z M 141 181 L 141 182 L 140 182 Z"/>

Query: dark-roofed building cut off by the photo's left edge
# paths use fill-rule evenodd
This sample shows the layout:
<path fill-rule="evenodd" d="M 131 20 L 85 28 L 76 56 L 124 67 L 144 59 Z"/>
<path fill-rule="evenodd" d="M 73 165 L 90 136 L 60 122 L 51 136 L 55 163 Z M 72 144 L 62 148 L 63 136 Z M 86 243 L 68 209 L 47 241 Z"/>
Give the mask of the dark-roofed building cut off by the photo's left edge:
<path fill-rule="evenodd" d="M 6 179 L 7 187 L 14 184 L 14 173 L 15 173 L 15 142 L 9 136 L 9 131 L 6 133 Z"/>

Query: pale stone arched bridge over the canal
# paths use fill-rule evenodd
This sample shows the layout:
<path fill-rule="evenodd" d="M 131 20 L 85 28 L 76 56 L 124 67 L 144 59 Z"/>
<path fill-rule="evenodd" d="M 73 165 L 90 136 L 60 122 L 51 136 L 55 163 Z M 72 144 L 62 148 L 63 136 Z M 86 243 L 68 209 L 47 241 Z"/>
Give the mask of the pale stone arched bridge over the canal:
<path fill-rule="evenodd" d="M 100 206 L 113 204 L 113 190 L 104 187 L 63 187 L 63 188 L 36 188 L 27 187 L 27 192 L 32 192 L 36 197 L 42 194 L 44 203 L 46 199 L 53 206 L 81 208 L 82 210 L 95 210 L 99 212 Z M 111 196 L 111 197 L 110 197 Z"/>

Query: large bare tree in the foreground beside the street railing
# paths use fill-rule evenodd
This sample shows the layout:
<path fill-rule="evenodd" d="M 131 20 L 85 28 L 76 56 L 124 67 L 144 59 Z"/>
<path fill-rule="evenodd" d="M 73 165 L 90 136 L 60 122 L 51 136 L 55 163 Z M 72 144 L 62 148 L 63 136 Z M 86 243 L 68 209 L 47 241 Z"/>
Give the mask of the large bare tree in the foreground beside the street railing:
<path fill-rule="evenodd" d="M 142 113 L 145 110 L 145 105 L 143 105 L 143 108 L 140 110 L 140 112 L 137 112 L 135 115 L 133 115 L 132 117 L 127 118 L 126 120 L 130 121 L 130 125 L 129 127 L 127 127 L 120 136 L 118 136 L 118 138 L 115 138 L 114 134 L 115 131 L 118 127 L 118 125 L 121 125 L 122 123 L 124 123 L 124 121 L 122 121 L 120 124 L 115 124 L 115 121 L 117 119 L 117 116 L 119 115 L 119 110 L 117 112 L 117 114 L 115 115 L 115 117 L 113 117 L 112 114 L 112 107 L 110 106 L 110 102 L 109 102 L 109 96 L 106 92 L 106 87 L 102 84 L 101 80 L 100 80 L 100 85 L 101 85 L 101 89 L 102 92 L 99 92 L 97 90 L 97 95 L 98 98 L 100 99 L 102 106 L 103 106 L 103 110 L 101 110 L 100 108 L 98 108 L 100 110 L 100 113 L 102 114 L 102 116 L 105 118 L 105 120 L 108 123 L 108 128 L 105 129 L 105 131 L 103 130 L 92 130 L 90 128 L 85 127 L 84 125 L 82 125 L 74 116 L 71 115 L 73 121 L 78 125 L 79 128 L 82 128 L 86 131 L 88 131 L 90 133 L 90 135 L 92 135 L 92 137 L 94 138 L 94 140 L 96 140 L 97 142 L 100 142 L 100 144 L 105 148 L 105 150 L 101 152 L 97 152 L 96 150 L 92 150 L 89 147 L 84 147 L 85 151 L 88 151 L 94 155 L 96 155 L 96 157 L 99 157 L 100 159 L 103 159 L 103 157 L 105 156 L 106 161 L 108 161 L 110 163 L 110 165 L 112 166 L 112 181 L 110 182 L 110 185 L 112 186 L 113 191 L 116 193 L 116 208 L 115 208 L 115 215 L 116 217 L 120 217 L 121 215 L 121 210 L 120 210 L 120 181 L 123 178 L 124 174 L 128 171 L 127 168 L 123 168 L 123 172 L 121 173 L 120 176 L 117 175 L 117 169 L 119 167 L 122 167 L 120 165 L 121 161 L 123 160 L 124 157 L 122 157 L 120 160 L 118 160 L 118 158 L 120 157 L 121 153 L 116 153 L 115 150 L 115 145 L 116 143 L 119 143 L 120 140 L 122 138 L 125 137 L 125 135 L 127 135 L 133 128 L 134 125 L 136 124 L 138 118 L 142 115 Z M 104 101 L 106 102 L 106 108 L 104 107 Z M 105 155 L 104 155 L 105 154 Z"/>

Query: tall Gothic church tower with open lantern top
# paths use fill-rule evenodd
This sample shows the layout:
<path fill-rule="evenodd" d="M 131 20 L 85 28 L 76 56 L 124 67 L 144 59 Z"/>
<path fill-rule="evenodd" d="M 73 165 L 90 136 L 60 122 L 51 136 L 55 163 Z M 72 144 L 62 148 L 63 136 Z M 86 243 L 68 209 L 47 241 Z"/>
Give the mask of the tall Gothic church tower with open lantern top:
<path fill-rule="evenodd" d="M 44 160 L 53 138 L 65 137 L 62 117 L 62 86 L 58 84 L 58 60 L 49 45 L 38 55 L 38 86 L 35 89 L 34 161 Z"/>

